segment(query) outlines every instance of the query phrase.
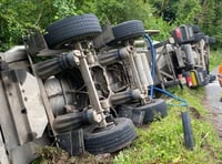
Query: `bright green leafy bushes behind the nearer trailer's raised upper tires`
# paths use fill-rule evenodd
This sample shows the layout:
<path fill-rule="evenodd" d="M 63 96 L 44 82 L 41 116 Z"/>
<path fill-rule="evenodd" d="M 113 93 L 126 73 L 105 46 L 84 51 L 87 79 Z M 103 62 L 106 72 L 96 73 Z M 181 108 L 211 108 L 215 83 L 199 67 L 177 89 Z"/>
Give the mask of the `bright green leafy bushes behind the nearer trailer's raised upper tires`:
<path fill-rule="evenodd" d="M 101 24 L 139 19 L 148 29 L 158 27 L 161 30 L 161 39 L 169 33 L 168 23 L 155 18 L 152 14 L 152 6 L 143 0 L 4 0 L 0 2 L 0 9 L 1 50 L 21 43 L 22 34 L 29 29 L 44 29 L 54 20 L 85 12 L 98 16 Z"/>

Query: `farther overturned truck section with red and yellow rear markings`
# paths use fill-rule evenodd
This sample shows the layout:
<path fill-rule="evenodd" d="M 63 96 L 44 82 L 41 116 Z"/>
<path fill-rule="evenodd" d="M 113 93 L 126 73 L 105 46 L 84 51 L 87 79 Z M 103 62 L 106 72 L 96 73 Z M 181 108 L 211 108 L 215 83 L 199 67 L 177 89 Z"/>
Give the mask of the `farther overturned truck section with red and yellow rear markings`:
<path fill-rule="evenodd" d="M 183 24 L 171 32 L 169 40 L 154 44 L 158 81 L 162 88 L 186 84 L 206 85 L 215 79 L 209 71 L 210 44 L 215 39 L 201 32 L 195 24 Z"/>

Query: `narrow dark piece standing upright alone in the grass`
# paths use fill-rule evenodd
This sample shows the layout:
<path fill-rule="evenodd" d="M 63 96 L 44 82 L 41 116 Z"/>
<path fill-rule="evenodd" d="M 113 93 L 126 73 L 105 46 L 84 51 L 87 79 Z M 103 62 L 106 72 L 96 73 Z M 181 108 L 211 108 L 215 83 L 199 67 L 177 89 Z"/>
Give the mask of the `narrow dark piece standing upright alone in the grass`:
<path fill-rule="evenodd" d="M 182 117 L 185 147 L 189 150 L 193 150 L 194 141 L 193 141 L 193 132 L 189 112 L 188 111 L 181 112 L 181 117 Z"/>

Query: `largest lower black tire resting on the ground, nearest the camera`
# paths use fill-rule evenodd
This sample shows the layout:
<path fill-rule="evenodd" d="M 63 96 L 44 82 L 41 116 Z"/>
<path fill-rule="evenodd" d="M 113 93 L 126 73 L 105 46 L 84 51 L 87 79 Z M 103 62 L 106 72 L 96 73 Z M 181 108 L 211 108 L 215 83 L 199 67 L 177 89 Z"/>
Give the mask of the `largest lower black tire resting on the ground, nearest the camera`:
<path fill-rule="evenodd" d="M 135 139 L 130 119 L 115 119 L 115 124 L 98 132 L 84 132 L 85 151 L 92 154 L 113 153 L 128 146 Z"/>

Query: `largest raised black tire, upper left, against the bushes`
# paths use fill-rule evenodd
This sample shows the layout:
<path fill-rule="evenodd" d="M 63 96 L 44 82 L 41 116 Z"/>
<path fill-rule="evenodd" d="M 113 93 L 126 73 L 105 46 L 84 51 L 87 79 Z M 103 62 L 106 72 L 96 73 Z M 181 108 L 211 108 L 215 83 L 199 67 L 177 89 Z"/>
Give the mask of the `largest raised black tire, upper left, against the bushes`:
<path fill-rule="evenodd" d="M 101 31 L 98 18 L 94 14 L 87 13 L 56 21 L 47 28 L 48 33 L 44 39 L 49 48 L 60 49 L 72 41 L 94 38 Z"/>

